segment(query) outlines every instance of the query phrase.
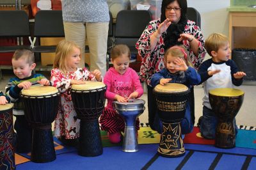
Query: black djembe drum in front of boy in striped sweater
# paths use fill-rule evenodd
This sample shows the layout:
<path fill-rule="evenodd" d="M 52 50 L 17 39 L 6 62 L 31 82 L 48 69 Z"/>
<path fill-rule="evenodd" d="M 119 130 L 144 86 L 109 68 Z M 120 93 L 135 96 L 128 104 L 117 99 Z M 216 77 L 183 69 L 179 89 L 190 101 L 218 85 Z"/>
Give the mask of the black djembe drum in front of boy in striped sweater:
<path fill-rule="evenodd" d="M 21 91 L 26 120 L 32 128 L 31 161 L 56 159 L 51 123 L 54 121 L 60 93 L 52 86 L 32 86 Z"/>

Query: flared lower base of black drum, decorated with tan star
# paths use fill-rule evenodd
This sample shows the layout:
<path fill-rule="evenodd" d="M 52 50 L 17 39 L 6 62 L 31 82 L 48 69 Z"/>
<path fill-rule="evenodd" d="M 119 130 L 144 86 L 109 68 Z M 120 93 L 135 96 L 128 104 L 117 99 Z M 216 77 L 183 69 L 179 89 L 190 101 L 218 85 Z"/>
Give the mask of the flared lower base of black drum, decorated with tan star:
<path fill-rule="evenodd" d="M 164 123 L 163 132 L 157 152 L 163 157 L 181 157 L 185 154 L 184 143 L 181 138 L 180 122 Z"/>

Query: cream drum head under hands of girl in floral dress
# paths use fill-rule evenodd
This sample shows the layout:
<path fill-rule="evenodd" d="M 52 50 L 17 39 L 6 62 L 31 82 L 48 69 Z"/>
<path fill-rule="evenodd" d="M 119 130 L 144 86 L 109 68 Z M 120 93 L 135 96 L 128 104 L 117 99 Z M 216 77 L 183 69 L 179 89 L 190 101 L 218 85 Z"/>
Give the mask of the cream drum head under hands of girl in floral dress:
<path fill-rule="evenodd" d="M 73 84 L 72 89 L 74 90 L 92 90 L 104 88 L 106 85 L 103 82 L 98 81 L 86 81 L 86 84 Z"/>

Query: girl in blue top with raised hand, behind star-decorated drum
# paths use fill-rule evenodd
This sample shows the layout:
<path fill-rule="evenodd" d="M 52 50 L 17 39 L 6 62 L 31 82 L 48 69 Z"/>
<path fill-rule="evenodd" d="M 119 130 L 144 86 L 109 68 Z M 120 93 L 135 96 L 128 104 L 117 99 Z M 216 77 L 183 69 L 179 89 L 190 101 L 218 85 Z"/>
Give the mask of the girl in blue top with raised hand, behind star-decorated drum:
<path fill-rule="evenodd" d="M 155 73 L 151 78 L 151 85 L 154 88 L 157 84 L 164 85 L 168 82 L 175 82 L 186 85 L 189 89 L 197 85 L 201 79 L 195 68 L 189 66 L 186 50 L 181 46 L 173 46 L 164 54 L 163 70 Z M 154 119 L 154 128 L 161 134 L 163 123 L 156 114 Z M 191 120 L 190 101 L 186 106 L 186 113 L 181 122 L 182 134 L 188 134 L 193 130 Z"/>

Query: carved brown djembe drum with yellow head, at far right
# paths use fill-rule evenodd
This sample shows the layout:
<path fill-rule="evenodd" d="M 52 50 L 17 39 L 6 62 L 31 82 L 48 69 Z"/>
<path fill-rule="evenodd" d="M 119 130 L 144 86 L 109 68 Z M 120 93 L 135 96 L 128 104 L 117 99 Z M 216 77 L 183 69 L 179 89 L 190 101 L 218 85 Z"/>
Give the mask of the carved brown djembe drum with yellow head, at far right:
<path fill-rule="evenodd" d="M 244 92 L 233 88 L 216 88 L 209 91 L 212 111 L 218 118 L 216 126 L 215 146 L 218 148 L 234 148 L 236 132 L 234 118 L 241 108 Z"/>

